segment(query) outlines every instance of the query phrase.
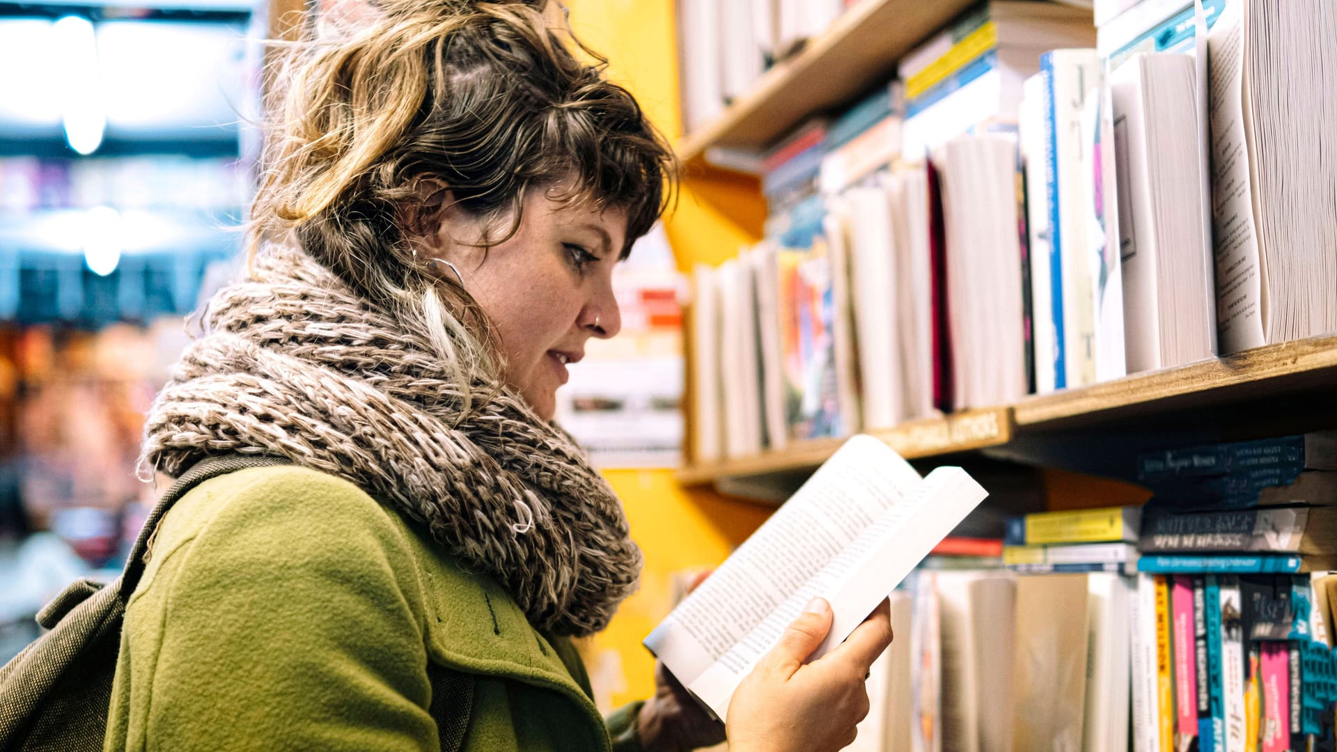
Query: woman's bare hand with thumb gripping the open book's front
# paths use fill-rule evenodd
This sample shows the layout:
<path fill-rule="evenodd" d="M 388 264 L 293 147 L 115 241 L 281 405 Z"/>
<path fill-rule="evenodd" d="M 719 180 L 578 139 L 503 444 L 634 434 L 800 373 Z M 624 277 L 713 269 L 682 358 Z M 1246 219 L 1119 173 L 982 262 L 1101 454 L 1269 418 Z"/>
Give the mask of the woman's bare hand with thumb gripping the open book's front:
<path fill-rule="evenodd" d="M 830 626 L 830 605 L 813 598 L 738 685 L 729 704 L 730 752 L 825 752 L 854 741 L 869 709 L 864 681 L 892 642 L 890 605 L 882 601 L 845 642 L 805 665 Z"/>

